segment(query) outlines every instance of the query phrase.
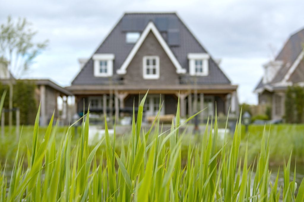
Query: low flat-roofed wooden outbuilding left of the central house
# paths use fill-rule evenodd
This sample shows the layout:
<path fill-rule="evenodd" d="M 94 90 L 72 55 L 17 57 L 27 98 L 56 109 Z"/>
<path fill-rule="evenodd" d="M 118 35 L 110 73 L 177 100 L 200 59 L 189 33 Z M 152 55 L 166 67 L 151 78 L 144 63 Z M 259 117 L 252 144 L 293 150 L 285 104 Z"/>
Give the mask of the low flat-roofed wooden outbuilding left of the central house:
<path fill-rule="evenodd" d="M 73 112 L 68 114 L 67 110 L 67 97 L 72 96 L 71 92 L 67 91 L 65 88 L 60 87 L 53 81 L 48 79 L 20 79 L 24 82 L 33 82 L 36 84 L 36 93 L 35 98 L 37 104 L 41 104 L 40 106 L 40 125 L 46 126 L 49 124 L 49 121 L 55 111 L 54 119 L 57 120 L 60 118 L 60 124 L 69 124 L 70 116 L 73 115 Z M 16 80 L 13 80 L 13 83 Z M 9 80 L 0 79 L 2 84 L 9 84 Z M 58 103 L 57 98 L 61 97 L 63 100 L 63 108 L 62 114 L 59 114 L 59 110 L 57 109 Z M 54 122 L 55 123 L 55 122 Z"/>

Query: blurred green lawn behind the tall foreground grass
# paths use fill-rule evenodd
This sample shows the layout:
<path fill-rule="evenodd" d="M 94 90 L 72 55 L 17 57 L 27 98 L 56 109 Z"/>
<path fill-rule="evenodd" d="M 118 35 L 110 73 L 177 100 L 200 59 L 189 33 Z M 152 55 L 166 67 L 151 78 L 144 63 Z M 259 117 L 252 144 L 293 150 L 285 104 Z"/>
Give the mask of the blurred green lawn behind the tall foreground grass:
<path fill-rule="evenodd" d="M 119 127 L 119 126 L 118 126 Z M 22 128 L 22 144 L 20 151 L 22 154 L 26 154 L 27 146 L 32 147 L 33 139 L 33 128 L 34 126 L 23 126 Z M 57 127 L 56 132 L 56 141 L 60 142 L 61 139 L 67 132 L 66 127 Z M 44 134 L 47 130 L 47 127 L 39 127 L 38 141 L 42 141 Z M 76 139 L 74 135 L 75 128 L 71 128 L 72 136 L 72 146 L 76 144 Z M 292 163 L 304 163 L 304 125 L 303 124 L 278 124 L 278 125 L 267 125 L 265 127 L 266 133 L 269 133 L 269 145 L 271 147 L 270 151 L 270 164 L 282 165 L 283 159 L 287 159 L 292 152 Z M 270 131 L 269 131 L 270 130 Z M 20 128 L 21 131 L 21 128 Z M 248 139 L 248 161 L 254 161 L 254 158 L 260 152 L 261 148 L 261 138 L 263 136 L 264 126 L 263 125 L 250 125 L 248 132 L 246 133 L 245 127 L 242 127 L 242 141 L 240 145 L 240 156 L 244 154 L 244 144 L 246 144 Z M 203 131 L 200 131 L 203 133 Z M 81 134 L 81 127 L 78 127 L 78 136 Z M 119 135 L 116 137 L 116 152 L 120 153 L 121 143 L 127 147 L 128 141 L 130 139 L 131 131 L 126 132 L 124 135 Z M 195 143 L 199 143 L 202 139 L 202 134 L 185 134 L 183 141 L 181 142 L 181 151 L 182 158 L 186 161 L 187 151 L 189 143 L 192 142 L 192 147 Z M 232 134 L 227 135 L 228 143 L 231 144 Z M 98 140 L 96 140 L 97 142 Z M 222 143 L 222 140 L 218 139 L 219 144 Z M 15 128 L 12 128 L 12 131 L 9 132 L 9 127 L 5 127 L 5 137 L 1 137 L 0 141 L 0 161 L 1 164 L 4 164 L 7 161 L 7 165 L 11 166 L 14 162 L 16 152 L 18 147 L 18 138 L 16 138 Z M 102 153 L 102 149 L 105 148 L 105 143 L 101 144 L 101 147 L 98 149 L 97 154 Z"/>

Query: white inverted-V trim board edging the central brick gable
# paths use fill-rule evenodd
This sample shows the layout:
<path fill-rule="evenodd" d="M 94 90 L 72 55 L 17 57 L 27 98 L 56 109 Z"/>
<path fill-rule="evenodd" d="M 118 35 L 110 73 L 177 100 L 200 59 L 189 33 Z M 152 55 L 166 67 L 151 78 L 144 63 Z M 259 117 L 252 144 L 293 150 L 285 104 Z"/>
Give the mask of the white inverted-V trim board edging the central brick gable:
<path fill-rule="evenodd" d="M 155 27 L 153 22 L 149 22 L 147 27 L 143 30 L 143 33 L 141 34 L 140 38 L 137 40 L 136 44 L 132 48 L 131 52 L 129 53 L 128 57 L 126 60 L 123 62 L 123 65 L 116 71 L 117 74 L 123 75 L 126 74 L 126 69 L 130 65 L 130 62 L 132 61 L 133 57 L 137 53 L 138 49 L 142 45 L 143 41 L 147 38 L 147 35 L 149 32 L 152 31 L 155 37 L 157 38 L 158 42 L 161 44 L 161 47 L 164 49 L 164 51 L 167 53 L 168 57 L 172 61 L 173 65 L 176 68 L 176 73 L 178 74 L 185 74 L 186 69 L 182 68 L 181 65 L 179 64 L 178 60 L 175 58 L 173 55 L 171 49 L 167 45 L 166 41 L 164 38 L 161 36 L 157 28 Z"/>

